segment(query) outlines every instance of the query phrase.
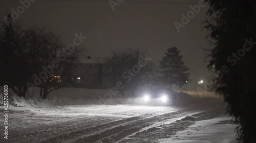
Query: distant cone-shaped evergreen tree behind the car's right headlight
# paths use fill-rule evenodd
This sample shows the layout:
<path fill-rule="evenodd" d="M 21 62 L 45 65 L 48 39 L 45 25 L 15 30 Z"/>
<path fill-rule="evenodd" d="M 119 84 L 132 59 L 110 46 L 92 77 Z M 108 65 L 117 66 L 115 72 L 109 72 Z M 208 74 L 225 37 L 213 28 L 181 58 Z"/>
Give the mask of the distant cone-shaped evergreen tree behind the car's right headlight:
<path fill-rule="evenodd" d="M 182 87 L 188 80 L 188 68 L 184 65 L 182 61 L 182 55 L 180 55 L 180 50 L 176 47 L 168 48 L 163 56 L 160 63 L 160 71 L 162 76 L 159 77 L 160 81 L 169 84 L 172 87 L 173 84 Z"/>

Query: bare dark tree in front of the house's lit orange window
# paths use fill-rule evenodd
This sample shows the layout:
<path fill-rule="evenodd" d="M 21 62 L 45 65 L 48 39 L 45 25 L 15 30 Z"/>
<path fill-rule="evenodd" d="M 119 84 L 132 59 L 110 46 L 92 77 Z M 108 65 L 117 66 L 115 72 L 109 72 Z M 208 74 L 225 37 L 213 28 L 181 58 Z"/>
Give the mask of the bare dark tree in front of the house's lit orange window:
<path fill-rule="evenodd" d="M 47 98 L 50 92 L 64 87 L 69 81 L 69 71 L 72 70 L 82 49 L 77 46 L 73 50 L 66 49 L 61 43 L 60 36 L 47 31 L 46 27 L 34 27 L 29 34 L 30 51 L 34 56 L 33 76 L 34 81 L 38 80 L 34 85 L 40 87 L 40 97 Z"/>

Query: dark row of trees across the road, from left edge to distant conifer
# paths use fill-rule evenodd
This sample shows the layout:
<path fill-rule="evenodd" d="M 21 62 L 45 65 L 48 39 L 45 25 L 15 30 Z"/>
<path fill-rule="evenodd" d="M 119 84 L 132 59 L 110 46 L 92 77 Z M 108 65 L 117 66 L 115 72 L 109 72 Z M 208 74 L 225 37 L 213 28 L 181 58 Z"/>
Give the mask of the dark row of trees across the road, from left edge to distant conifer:
<path fill-rule="evenodd" d="M 75 75 L 70 71 L 77 67 L 83 50 L 76 47 L 71 51 L 66 48 L 60 55 L 59 51 L 63 49 L 65 45 L 56 33 L 47 31 L 46 27 L 24 28 L 18 22 L 13 22 L 9 15 L 0 31 L 0 57 L 3 59 L 0 62 L 3 69 L 0 70 L 0 85 L 8 85 L 20 97 L 26 96 L 29 87 L 38 87 L 39 95 L 44 99 L 56 89 L 73 87 Z M 111 69 L 111 72 L 96 73 L 100 74 L 97 83 L 102 84 L 104 76 L 110 76 L 113 79 L 112 87 L 122 83 L 122 88 L 118 90 L 121 93 L 129 90 L 132 95 L 144 84 L 165 84 L 169 87 L 176 84 L 182 87 L 189 75 L 189 69 L 176 47 L 167 49 L 159 69 L 147 59 L 146 52 L 138 48 L 112 51 L 103 64 L 104 69 Z"/>

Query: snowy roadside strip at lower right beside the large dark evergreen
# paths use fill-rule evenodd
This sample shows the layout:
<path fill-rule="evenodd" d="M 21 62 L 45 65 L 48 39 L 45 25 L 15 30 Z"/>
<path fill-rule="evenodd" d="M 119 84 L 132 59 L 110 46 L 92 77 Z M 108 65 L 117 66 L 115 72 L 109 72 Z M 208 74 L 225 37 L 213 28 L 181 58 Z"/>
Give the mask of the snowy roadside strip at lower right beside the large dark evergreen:
<path fill-rule="evenodd" d="M 234 126 L 230 118 L 221 116 L 210 120 L 197 121 L 171 138 L 160 139 L 161 143 L 238 143 L 234 141 Z"/>

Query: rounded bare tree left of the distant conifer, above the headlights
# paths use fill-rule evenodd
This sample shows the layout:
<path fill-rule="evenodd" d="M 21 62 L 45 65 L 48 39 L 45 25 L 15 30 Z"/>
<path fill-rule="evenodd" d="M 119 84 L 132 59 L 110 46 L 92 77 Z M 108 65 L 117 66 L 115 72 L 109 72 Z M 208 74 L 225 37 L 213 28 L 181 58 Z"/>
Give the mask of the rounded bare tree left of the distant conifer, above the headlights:
<path fill-rule="evenodd" d="M 140 49 L 126 48 L 123 51 L 112 51 L 105 66 L 111 68 L 112 83 L 121 82 L 125 90 L 134 94 L 138 86 L 148 82 L 148 76 L 152 72 L 152 63 L 146 61 L 146 53 Z"/>

